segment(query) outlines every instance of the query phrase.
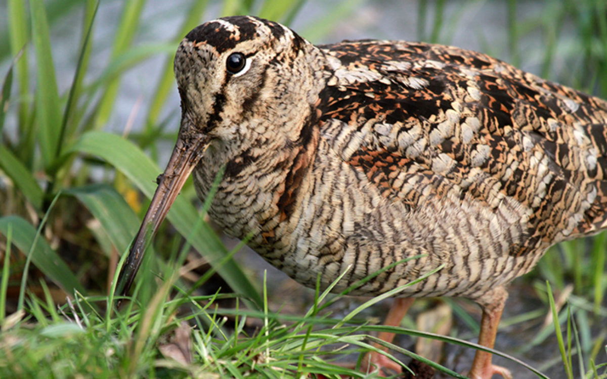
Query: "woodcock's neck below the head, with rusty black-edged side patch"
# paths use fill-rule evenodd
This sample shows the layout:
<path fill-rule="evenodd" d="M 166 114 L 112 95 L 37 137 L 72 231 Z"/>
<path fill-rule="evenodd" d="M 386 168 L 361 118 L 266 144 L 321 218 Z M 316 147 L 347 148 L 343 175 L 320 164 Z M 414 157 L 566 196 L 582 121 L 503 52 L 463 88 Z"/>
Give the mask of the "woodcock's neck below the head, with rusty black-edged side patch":
<path fill-rule="evenodd" d="M 318 141 L 318 126 L 307 120 L 298 127 L 297 138 L 252 134 L 240 141 L 218 139 L 206 150 L 194 170 L 195 187 L 205 200 L 224 168 L 209 216 L 226 233 L 241 239 L 252 233 L 249 245 L 254 247 L 288 233 Z"/>

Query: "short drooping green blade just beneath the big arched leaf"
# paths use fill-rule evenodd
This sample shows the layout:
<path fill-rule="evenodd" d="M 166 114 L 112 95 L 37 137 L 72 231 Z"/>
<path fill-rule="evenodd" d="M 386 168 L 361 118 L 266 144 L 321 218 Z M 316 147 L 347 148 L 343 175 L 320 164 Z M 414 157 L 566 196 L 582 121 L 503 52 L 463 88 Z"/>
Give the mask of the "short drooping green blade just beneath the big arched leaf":
<path fill-rule="evenodd" d="M 119 252 L 128 249 L 140 220 L 114 187 L 92 184 L 64 190 L 64 193 L 75 196 L 89 209 Z"/>

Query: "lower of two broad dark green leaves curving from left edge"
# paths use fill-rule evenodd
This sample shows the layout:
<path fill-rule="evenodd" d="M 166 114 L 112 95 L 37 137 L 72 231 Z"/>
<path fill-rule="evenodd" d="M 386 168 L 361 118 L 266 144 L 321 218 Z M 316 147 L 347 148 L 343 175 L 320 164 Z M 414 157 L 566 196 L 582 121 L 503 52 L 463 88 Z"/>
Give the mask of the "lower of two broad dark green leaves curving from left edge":
<path fill-rule="evenodd" d="M 22 252 L 28 252 L 32 248 L 32 241 L 36 238 L 36 229 L 19 216 L 0 218 L 0 232 L 2 234 L 7 235 L 9 226 L 13 229 L 13 244 Z M 72 294 L 74 290 L 78 290 L 78 292 L 86 293 L 86 290 L 67 267 L 67 264 L 55 250 L 51 249 L 44 238 L 38 239 L 31 256 L 34 266 L 38 267 L 65 292 Z"/>

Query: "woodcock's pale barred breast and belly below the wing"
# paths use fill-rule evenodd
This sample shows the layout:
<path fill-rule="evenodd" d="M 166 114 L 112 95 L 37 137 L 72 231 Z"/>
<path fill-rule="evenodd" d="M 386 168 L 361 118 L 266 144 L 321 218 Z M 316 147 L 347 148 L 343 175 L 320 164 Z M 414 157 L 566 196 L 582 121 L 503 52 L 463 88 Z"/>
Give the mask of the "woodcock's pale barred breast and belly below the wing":
<path fill-rule="evenodd" d="M 283 160 L 263 166 L 280 167 Z M 304 285 L 313 287 L 320 275 L 322 287 L 327 287 L 345 272 L 335 287 L 342 290 L 383 270 L 352 292 L 376 295 L 442 267 L 439 275 L 403 294 L 475 297 L 532 266 L 531 260 L 509 254 L 524 237 L 525 221 L 523 210 L 507 198 L 498 206 L 500 212 L 487 212 L 448 191 L 438 196 L 432 181 L 419 181 L 416 190 L 429 195 L 412 207 L 386 196 L 324 138 L 297 183 L 285 169 L 292 163 L 268 172 L 261 164 L 257 159 L 239 170 L 229 170 L 227 164 L 209 215 L 228 234 L 250 236 L 249 246 Z M 209 193 L 221 166 L 207 164 L 195 170 L 201 198 Z M 288 213 L 282 204 L 285 193 L 292 196 Z M 515 217 L 515 212 L 521 215 Z"/>

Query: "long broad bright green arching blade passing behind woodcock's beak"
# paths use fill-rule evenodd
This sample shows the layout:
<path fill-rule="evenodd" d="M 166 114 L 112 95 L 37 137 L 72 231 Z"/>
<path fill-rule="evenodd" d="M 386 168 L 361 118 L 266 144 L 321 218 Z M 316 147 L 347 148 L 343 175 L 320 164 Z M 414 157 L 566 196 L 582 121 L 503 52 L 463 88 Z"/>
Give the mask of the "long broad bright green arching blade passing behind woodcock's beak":
<path fill-rule="evenodd" d="M 131 179 L 148 198 L 154 195 L 155 178 L 161 170 L 137 146 L 126 139 L 110 133 L 87 132 L 72 147 L 72 151 L 100 156 Z M 198 212 L 188 200 L 178 196 L 167 218 L 181 235 L 189 236 L 192 226 L 196 224 Z M 202 224 L 200 232 L 193 235 L 189 242 L 198 252 L 208 257 L 211 263 L 221 261 L 228 253 L 219 237 L 206 223 Z M 262 306 L 259 293 L 236 262 L 233 260 L 225 262 L 217 267 L 217 272 L 232 289 L 245 295 L 256 306 Z"/>

